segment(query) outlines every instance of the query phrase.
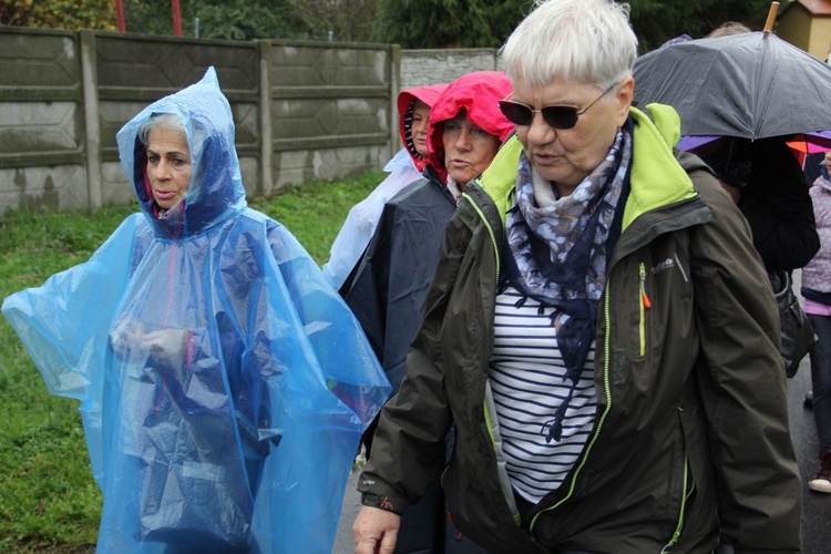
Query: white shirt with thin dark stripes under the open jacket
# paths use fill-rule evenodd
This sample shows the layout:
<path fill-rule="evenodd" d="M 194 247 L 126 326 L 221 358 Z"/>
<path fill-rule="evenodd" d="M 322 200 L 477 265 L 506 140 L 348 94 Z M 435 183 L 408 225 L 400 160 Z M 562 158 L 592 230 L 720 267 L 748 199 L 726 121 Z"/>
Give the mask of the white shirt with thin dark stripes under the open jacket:
<path fill-rule="evenodd" d="M 565 412 L 563 437 L 545 441 L 546 423 L 567 399 L 572 382 L 564 378 L 551 319 L 555 310 L 540 307 L 514 288 L 496 297 L 490 375 L 507 474 L 514 490 L 532 503 L 563 482 L 588 440 L 597 408 L 593 343 Z"/>

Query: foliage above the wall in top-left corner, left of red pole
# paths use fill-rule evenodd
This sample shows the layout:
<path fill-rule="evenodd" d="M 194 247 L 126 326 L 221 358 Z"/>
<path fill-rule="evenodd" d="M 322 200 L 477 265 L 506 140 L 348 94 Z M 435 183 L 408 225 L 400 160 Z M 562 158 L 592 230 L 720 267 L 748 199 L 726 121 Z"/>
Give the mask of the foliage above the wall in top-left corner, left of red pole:
<path fill-rule="evenodd" d="M 7 0 L 0 24 L 114 31 L 115 0 Z"/>

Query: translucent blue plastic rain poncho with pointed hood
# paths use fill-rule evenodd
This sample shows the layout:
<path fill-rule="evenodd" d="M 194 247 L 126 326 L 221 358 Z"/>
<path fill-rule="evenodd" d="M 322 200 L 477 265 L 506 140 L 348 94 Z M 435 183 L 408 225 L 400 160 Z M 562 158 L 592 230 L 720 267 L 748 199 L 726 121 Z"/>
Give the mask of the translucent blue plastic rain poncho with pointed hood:
<path fill-rule="evenodd" d="M 181 117 L 193 165 L 163 216 L 136 138 L 158 113 Z M 142 213 L 2 306 L 50 392 L 82 401 L 98 552 L 330 552 L 390 391 L 372 350 L 297 240 L 246 207 L 213 69 L 117 141 Z"/>

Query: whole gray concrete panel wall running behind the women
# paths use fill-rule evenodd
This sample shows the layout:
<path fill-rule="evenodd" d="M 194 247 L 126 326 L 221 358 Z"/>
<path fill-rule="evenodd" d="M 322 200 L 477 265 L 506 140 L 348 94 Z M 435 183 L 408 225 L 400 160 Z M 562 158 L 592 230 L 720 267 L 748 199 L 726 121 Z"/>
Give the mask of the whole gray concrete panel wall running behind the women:
<path fill-rule="evenodd" d="M 250 196 L 382 167 L 403 88 L 495 68 L 495 51 L 209 41 L 0 27 L 0 218 L 133 199 L 115 134 L 216 68 Z"/>

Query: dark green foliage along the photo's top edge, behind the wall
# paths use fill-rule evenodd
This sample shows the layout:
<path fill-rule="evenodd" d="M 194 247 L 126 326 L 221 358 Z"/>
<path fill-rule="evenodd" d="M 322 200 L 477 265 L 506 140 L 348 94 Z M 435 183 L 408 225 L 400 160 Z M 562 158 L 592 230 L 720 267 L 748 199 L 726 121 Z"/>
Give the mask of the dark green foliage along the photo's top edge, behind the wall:
<path fill-rule="evenodd" d="M 173 34 L 170 0 L 123 0 L 127 31 Z M 683 33 L 701 38 L 726 21 L 753 30 L 769 0 L 628 0 L 645 53 Z M 318 39 L 414 48 L 499 48 L 534 0 L 179 0 L 183 33 L 203 39 Z M 115 29 L 115 0 L 6 0 L 0 24 Z"/>

